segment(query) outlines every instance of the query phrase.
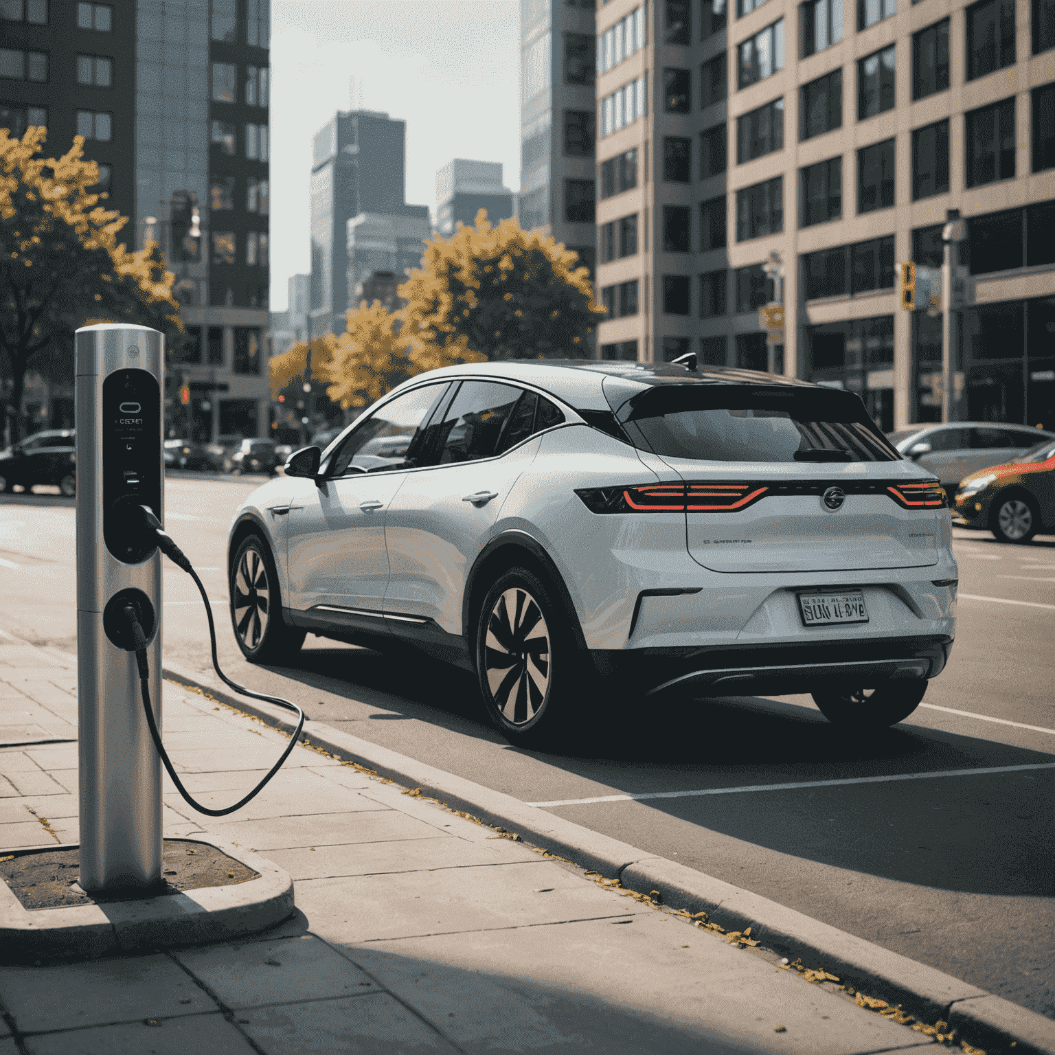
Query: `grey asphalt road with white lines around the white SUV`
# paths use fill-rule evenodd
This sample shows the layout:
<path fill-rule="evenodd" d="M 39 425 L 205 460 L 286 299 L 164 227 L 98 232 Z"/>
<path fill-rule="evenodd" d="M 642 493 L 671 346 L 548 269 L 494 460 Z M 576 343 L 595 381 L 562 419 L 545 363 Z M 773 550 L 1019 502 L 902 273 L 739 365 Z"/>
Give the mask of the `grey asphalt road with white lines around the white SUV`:
<path fill-rule="evenodd" d="M 167 487 L 167 528 L 210 588 L 236 680 L 524 802 L 560 803 L 546 808 L 1055 1018 L 1055 537 L 1006 546 L 955 531 L 952 661 L 907 721 L 866 742 L 837 733 L 807 696 L 629 717 L 598 698 L 589 746 L 535 754 L 486 725 L 469 675 L 424 658 L 309 638 L 295 669 L 245 664 L 226 615 L 225 545 L 257 482 Z M 0 632 L 65 651 L 76 647 L 72 504 L 0 496 Z M 170 565 L 165 591 L 166 656 L 208 669 L 193 583 Z M 654 792 L 677 794 L 627 798 Z M 608 801 L 582 801 L 596 799 Z"/>

